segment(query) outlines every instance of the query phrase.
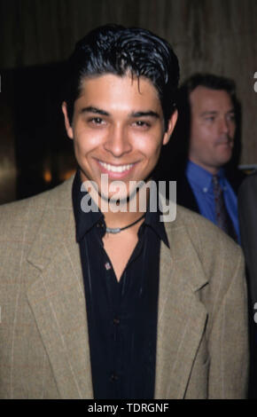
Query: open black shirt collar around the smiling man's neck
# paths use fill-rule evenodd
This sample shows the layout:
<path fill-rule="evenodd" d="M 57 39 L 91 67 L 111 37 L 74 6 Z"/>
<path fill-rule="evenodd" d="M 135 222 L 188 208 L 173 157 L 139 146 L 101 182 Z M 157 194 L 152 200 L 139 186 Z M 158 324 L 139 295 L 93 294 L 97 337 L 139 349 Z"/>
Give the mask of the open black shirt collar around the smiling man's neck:
<path fill-rule="evenodd" d="M 76 226 L 76 240 L 80 242 L 84 235 L 90 231 L 92 227 L 99 223 L 105 223 L 105 216 L 100 209 L 97 211 L 82 211 L 81 202 L 82 198 L 87 194 L 86 191 L 82 191 L 82 179 L 80 176 L 80 171 L 77 169 L 77 172 L 74 177 L 74 183 L 72 188 L 72 197 L 73 197 L 73 206 L 74 206 L 74 217 L 75 217 L 75 226 Z M 163 222 L 160 222 L 160 210 L 157 212 L 150 211 L 149 207 L 147 208 L 145 214 L 144 224 L 152 228 L 156 232 L 163 242 L 169 247 L 167 240 L 167 233 Z M 140 227 L 141 229 L 141 227 Z M 139 230 L 140 230 L 139 229 Z M 142 229 L 141 229 L 142 230 Z"/>

